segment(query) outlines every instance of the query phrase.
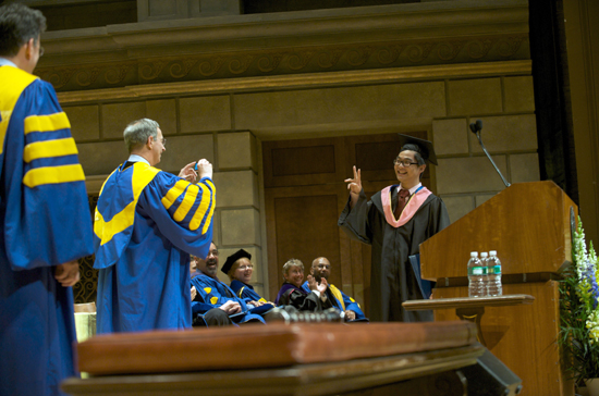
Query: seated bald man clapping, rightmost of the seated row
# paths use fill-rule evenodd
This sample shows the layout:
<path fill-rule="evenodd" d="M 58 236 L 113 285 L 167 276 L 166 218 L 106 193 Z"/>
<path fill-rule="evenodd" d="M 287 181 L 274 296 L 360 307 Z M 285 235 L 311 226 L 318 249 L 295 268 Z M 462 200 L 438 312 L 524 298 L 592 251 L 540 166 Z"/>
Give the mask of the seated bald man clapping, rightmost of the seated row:
<path fill-rule="evenodd" d="M 322 282 L 328 285 L 325 295 L 332 302 L 333 307 L 345 313 L 345 320 L 347 322 L 368 321 L 356 300 L 341 292 L 333 284 L 327 283 L 327 280 L 331 274 L 331 263 L 326 257 L 319 257 L 311 262 L 310 273 L 314 274 L 316 282 Z M 305 282 L 302 288 L 304 292 L 308 293 L 310 290 L 309 283 Z"/>

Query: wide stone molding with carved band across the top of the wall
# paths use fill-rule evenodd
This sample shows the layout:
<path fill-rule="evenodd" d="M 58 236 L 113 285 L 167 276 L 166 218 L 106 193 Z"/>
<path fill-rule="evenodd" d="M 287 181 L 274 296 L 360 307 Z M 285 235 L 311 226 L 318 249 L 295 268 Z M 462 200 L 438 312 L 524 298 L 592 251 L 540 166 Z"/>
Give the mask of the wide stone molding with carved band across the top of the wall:
<path fill-rule="evenodd" d="M 528 4 L 472 0 L 50 32 L 58 91 L 529 59 Z"/>

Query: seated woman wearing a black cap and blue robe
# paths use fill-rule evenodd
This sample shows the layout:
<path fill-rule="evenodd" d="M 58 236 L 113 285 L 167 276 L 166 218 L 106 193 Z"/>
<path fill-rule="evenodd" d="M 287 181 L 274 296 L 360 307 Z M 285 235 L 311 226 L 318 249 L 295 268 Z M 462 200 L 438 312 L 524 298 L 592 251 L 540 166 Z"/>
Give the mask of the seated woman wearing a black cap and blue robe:
<path fill-rule="evenodd" d="M 244 249 L 240 249 L 227 258 L 221 271 L 231 280 L 231 289 L 235 292 L 237 297 L 243 298 L 246 304 L 254 307 L 264 306 L 265 304 L 276 307 L 273 302 L 267 301 L 257 294 L 254 286 L 249 284 L 254 272 L 254 265 L 249 260 L 252 260 L 252 255 Z"/>

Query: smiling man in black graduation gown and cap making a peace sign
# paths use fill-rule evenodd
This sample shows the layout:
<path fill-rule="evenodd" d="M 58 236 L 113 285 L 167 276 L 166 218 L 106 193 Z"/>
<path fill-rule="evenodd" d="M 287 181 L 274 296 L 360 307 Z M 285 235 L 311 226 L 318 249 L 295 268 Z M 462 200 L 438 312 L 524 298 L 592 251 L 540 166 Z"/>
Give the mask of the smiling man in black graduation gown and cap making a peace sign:
<path fill-rule="evenodd" d="M 431 282 L 420 279 L 419 245 L 450 224 L 441 198 L 420 183 L 426 161 L 437 164 L 430 141 L 400 135 L 402 148 L 393 161 L 399 185 L 383 188 L 367 200 L 360 172 L 347 178 L 350 199 L 339 225 L 372 245 L 370 276 L 371 321 L 432 321 L 432 311 L 406 311 L 405 300 L 430 297 Z"/>

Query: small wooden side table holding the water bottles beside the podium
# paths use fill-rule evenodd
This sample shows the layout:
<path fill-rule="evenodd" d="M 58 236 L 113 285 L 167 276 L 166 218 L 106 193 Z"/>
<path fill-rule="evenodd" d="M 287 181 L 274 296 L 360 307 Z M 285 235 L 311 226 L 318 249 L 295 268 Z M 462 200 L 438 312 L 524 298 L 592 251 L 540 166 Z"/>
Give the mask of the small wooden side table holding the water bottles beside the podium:
<path fill-rule="evenodd" d="M 533 296 L 514 294 L 498 297 L 457 297 L 412 300 L 403 302 L 403 307 L 408 311 L 455 308 L 455 314 L 461 320 L 467 320 L 476 324 L 478 341 L 486 346 L 487 344 L 485 343 L 480 329 L 480 320 L 482 314 L 485 314 L 485 307 L 519 306 L 523 304 L 533 304 L 534 301 L 535 297 Z"/>

